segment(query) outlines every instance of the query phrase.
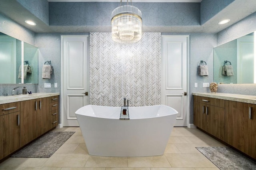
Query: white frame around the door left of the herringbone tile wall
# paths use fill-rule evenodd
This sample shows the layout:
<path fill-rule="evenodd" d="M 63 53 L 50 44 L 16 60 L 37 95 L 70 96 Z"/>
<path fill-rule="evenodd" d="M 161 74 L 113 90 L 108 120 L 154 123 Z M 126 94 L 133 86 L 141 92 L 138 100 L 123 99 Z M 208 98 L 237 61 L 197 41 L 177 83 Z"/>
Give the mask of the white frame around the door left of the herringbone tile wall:
<path fill-rule="evenodd" d="M 60 42 L 61 42 L 61 45 L 60 45 L 60 47 L 62 48 L 63 47 L 63 38 L 64 37 L 88 37 L 88 46 L 90 46 L 90 40 L 89 40 L 89 35 L 68 35 L 68 36 L 64 36 L 64 35 L 62 35 L 61 36 L 61 40 L 60 40 Z M 89 49 L 89 47 L 88 47 L 88 49 Z M 88 89 L 88 92 L 90 91 L 90 74 L 89 74 L 89 71 L 90 71 L 90 68 L 89 68 L 89 65 L 90 65 L 90 63 L 89 63 L 89 60 L 90 60 L 90 51 L 88 50 L 88 66 L 87 66 L 87 69 L 88 69 L 88 87 L 89 87 L 89 89 Z M 60 120 L 61 120 L 61 122 L 60 122 L 60 124 L 58 125 L 58 128 L 62 128 L 63 127 L 63 109 L 64 109 L 64 107 L 63 107 L 63 103 L 62 103 L 62 101 L 63 101 L 63 51 L 62 51 L 62 49 L 60 50 L 60 64 L 61 64 L 61 67 L 60 67 L 60 72 L 61 72 L 61 91 L 60 91 L 60 105 L 61 105 L 61 107 L 60 107 Z M 90 93 L 89 93 L 89 95 L 90 95 Z M 88 96 L 88 103 L 90 103 L 90 96 Z"/>

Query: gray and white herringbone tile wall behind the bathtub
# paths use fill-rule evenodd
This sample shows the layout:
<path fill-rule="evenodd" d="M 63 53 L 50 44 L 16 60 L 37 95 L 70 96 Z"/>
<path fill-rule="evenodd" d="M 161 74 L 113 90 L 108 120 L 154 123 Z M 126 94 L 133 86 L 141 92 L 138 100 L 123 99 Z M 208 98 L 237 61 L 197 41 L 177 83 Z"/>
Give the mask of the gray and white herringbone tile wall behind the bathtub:
<path fill-rule="evenodd" d="M 111 33 L 90 33 L 90 104 L 161 104 L 161 33 L 143 33 L 132 44 L 112 41 Z"/>

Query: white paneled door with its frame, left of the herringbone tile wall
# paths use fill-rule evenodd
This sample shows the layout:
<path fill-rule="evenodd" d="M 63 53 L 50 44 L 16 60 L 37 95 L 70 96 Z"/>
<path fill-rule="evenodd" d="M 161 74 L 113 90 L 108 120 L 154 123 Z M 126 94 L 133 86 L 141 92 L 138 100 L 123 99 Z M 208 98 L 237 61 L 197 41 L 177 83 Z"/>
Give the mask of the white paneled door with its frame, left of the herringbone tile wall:
<path fill-rule="evenodd" d="M 75 111 L 89 104 L 88 50 L 88 36 L 61 36 L 64 127 L 78 127 Z"/>

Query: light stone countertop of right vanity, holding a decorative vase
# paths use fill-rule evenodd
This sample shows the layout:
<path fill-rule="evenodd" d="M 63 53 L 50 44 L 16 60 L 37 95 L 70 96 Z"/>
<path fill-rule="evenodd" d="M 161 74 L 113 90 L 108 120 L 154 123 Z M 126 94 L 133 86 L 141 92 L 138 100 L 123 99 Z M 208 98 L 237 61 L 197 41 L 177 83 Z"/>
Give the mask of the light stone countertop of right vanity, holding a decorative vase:
<path fill-rule="evenodd" d="M 192 93 L 192 95 L 256 104 L 256 96 L 252 95 L 238 95 L 231 93 Z"/>

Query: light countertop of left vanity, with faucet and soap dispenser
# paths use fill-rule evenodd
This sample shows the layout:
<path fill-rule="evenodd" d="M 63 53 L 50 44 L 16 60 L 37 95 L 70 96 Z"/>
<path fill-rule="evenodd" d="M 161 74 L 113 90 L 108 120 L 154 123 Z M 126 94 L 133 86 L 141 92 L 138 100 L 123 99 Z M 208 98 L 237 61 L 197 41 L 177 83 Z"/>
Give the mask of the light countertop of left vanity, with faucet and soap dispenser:
<path fill-rule="evenodd" d="M 0 96 L 0 104 L 57 96 L 60 93 L 32 93 L 31 95 Z"/>

